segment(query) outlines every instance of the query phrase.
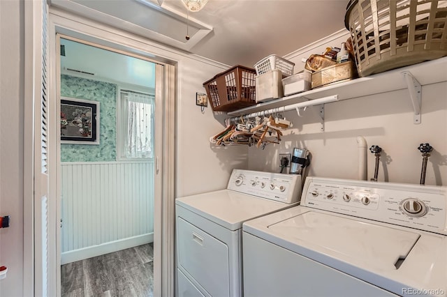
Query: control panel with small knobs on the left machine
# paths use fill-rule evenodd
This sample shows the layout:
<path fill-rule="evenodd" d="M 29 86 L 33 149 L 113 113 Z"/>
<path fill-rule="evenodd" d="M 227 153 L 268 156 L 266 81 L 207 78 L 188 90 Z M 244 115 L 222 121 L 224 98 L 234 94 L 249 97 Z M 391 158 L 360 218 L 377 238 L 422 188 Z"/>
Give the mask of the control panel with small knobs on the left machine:
<path fill-rule="evenodd" d="M 293 204 L 300 201 L 301 176 L 233 169 L 227 189 Z"/>

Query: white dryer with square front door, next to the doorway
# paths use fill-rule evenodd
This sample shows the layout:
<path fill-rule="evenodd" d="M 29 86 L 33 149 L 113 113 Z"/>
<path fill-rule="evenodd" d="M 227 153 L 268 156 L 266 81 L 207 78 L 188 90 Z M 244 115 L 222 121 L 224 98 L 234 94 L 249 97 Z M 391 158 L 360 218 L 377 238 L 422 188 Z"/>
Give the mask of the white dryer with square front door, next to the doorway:
<path fill-rule="evenodd" d="M 226 190 L 176 199 L 177 296 L 242 296 L 242 222 L 300 193 L 300 175 L 234 169 Z"/>

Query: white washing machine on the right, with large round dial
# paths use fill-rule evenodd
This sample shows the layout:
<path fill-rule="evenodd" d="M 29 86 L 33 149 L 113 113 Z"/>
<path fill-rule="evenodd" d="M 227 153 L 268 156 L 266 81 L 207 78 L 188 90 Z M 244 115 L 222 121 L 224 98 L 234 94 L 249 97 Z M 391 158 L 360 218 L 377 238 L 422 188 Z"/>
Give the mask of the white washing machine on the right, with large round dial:
<path fill-rule="evenodd" d="M 446 296 L 447 188 L 308 177 L 243 224 L 244 296 Z"/>

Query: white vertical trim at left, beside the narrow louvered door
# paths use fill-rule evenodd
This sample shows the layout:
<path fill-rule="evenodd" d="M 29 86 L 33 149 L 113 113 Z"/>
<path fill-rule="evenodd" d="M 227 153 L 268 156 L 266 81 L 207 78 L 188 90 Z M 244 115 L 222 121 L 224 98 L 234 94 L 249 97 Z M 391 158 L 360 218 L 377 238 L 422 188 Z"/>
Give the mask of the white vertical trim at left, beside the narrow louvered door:
<path fill-rule="evenodd" d="M 23 296 L 34 296 L 35 107 L 42 97 L 43 1 L 24 1 Z M 36 182 L 40 180 L 37 178 Z M 42 259 L 38 259 L 41 262 Z M 41 267 L 37 267 L 41 268 Z"/>

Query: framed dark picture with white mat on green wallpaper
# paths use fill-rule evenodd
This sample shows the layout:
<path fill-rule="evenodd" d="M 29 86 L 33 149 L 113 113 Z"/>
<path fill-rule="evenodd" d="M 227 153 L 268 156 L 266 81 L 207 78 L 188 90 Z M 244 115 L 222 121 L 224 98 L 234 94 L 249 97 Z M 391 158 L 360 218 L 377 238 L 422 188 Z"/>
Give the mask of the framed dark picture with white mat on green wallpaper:
<path fill-rule="evenodd" d="M 61 144 L 99 144 L 99 102 L 61 98 Z"/>

